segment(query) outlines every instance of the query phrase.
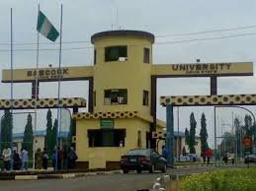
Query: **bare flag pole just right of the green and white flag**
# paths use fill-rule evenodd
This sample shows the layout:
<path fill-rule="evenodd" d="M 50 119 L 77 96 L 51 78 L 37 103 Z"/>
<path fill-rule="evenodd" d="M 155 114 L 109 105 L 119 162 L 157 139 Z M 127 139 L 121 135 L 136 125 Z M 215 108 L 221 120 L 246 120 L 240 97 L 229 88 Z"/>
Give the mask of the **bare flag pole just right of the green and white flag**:
<path fill-rule="evenodd" d="M 59 57 L 58 57 L 58 88 L 57 88 L 57 132 L 56 132 L 56 151 L 55 151 L 55 170 L 57 170 L 57 145 L 58 145 L 58 131 L 60 129 L 60 69 L 61 69 L 61 50 L 62 50 L 62 8 L 60 6 L 60 30 L 59 30 Z"/>

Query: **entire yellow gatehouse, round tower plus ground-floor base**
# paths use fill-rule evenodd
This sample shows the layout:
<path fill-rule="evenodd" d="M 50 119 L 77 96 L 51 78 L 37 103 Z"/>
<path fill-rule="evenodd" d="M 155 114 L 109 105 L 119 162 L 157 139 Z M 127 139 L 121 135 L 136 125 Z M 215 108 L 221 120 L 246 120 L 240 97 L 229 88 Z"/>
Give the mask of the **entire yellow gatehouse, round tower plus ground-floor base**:
<path fill-rule="evenodd" d="M 93 112 L 76 113 L 79 165 L 112 168 L 128 150 L 149 148 L 152 43 L 149 32 L 92 36 L 95 46 Z M 164 127 L 158 121 L 159 128 Z"/>

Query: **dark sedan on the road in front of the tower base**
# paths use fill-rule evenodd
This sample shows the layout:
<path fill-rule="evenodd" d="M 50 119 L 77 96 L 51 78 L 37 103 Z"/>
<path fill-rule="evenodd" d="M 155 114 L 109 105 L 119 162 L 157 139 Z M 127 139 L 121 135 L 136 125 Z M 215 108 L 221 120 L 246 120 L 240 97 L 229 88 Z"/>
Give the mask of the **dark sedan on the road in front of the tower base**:
<path fill-rule="evenodd" d="M 166 168 L 166 159 L 151 149 L 130 150 L 121 158 L 121 169 L 124 173 L 128 173 L 129 170 L 136 170 L 137 173 L 142 170 L 149 170 L 150 173 L 154 170 L 165 172 Z"/>

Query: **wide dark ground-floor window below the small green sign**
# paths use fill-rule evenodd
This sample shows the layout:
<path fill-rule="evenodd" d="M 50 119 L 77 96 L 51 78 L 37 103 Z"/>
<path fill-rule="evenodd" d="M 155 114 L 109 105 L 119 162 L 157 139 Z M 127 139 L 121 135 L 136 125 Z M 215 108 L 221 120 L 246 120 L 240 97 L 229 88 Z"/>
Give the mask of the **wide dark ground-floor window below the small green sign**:
<path fill-rule="evenodd" d="M 125 147 L 126 129 L 89 129 L 89 147 Z"/>

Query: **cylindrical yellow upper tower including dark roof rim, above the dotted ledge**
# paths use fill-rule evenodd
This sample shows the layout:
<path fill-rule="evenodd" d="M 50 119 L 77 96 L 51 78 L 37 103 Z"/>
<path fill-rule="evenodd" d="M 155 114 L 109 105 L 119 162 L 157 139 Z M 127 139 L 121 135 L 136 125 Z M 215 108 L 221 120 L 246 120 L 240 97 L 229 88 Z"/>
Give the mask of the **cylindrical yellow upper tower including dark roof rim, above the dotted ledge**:
<path fill-rule="evenodd" d="M 138 111 L 150 115 L 154 35 L 110 31 L 91 37 L 94 55 L 94 111 Z"/>

